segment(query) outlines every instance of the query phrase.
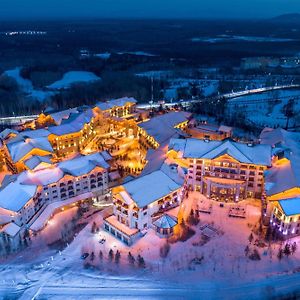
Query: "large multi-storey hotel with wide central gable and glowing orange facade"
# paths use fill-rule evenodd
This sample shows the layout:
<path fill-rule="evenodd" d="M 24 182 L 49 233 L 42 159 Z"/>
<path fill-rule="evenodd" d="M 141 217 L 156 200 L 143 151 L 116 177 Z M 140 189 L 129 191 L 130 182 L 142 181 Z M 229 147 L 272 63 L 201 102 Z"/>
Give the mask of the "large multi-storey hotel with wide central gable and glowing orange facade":
<path fill-rule="evenodd" d="M 169 156 L 188 168 L 187 183 L 217 201 L 261 198 L 271 147 L 224 141 L 172 139 Z"/>

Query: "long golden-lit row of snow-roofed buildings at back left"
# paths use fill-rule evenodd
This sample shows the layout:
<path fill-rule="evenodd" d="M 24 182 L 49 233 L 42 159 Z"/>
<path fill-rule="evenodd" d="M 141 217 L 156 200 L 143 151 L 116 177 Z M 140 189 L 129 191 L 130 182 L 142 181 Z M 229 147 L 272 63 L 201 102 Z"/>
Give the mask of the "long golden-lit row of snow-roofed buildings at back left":
<path fill-rule="evenodd" d="M 31 169 L 29 159 L 62 160 L 83 152 L 97 135 L 111 131 L 137 135 L 134 120 L 125 117 L 135 112 L 136 100 L 121 98 L 98 106 L 64 111 L 45 111 L 24 131 L 6 129 L 0 134 L 0 168 L 12 173 Z M 39 129 L 37 129 L 39 128 Z"/>

